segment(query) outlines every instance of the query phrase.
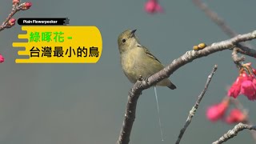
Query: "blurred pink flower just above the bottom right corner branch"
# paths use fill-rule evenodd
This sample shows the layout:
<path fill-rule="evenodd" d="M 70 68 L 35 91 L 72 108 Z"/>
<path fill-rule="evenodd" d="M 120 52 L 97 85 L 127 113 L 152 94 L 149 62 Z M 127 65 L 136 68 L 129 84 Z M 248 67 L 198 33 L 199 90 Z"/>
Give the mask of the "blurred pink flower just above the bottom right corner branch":
<path fill-rule="evenodd" d="M 226 117 L 225 121 L 227 123 L 238 123 L 244 122 L 246 120 L 246 114 L 243 114 L 241 110 L 233 109 L 230 114 Z"/>

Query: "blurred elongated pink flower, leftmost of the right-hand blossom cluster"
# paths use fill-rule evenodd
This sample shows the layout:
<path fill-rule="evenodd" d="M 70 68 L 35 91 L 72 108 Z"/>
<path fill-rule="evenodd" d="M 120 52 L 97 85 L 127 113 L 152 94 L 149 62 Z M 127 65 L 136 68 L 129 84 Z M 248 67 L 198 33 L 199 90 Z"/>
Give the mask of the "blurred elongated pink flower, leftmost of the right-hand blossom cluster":
<path fill-rule="evenodd" d="M 216 122 L 219 118 L 222 118 L 228 106 L 229 100 L 226 98 L 221 103 L 210 106 L 206 111 L 206 117 L 211 122 Z"/>

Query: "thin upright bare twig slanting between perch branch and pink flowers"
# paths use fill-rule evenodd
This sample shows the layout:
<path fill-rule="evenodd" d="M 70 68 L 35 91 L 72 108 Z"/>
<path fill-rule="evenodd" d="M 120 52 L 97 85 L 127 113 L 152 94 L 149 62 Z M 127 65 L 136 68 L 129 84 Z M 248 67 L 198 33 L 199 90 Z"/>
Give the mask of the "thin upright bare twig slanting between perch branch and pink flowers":
<path fill-rule="evenodd" d="M 202 93 L 198 96 L 197 102 L 195 102 L 194 106 L 190 110 L 190 114 L 186 118 L 186 123 L 185 123 L 184 127 L 182 128 L 182 130 L 180 131 L 180 133 L 178 135 L 178 140 L 175 142 L 175 144 L 179 144 L 179 142 L 182 140 L 182 136 L 185 133 L 186 128 L 190 125 L 190 122 L 191 122 L 192 118 L 194 117 L 194 114 L 196 113 L 196 110 L 198 110 L 199 103 L 201 102 L 203 96 L 206 94 L 206 90 L 208 89 L 208 86 L 210 84 L 210 80 L 211 80 L 211 78 L 213 78 L 214 73 L 217 70 L 217 68 L 218 68 L 218 66 L 215 65 L 214 69 L 212 70 L 212 72 L 208 76 L 205 88 L 202 90 Z"/>

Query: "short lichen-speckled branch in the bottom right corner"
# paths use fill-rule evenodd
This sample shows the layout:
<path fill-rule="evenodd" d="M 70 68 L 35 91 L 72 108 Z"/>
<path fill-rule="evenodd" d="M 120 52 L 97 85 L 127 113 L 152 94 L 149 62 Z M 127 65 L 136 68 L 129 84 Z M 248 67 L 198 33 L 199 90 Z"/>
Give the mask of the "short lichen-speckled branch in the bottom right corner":
<path fill-rule="evenodd" d="M 230 138 L 234 138 L 234 136 L 236 136 L 238 132 L 245 129 L 256 130 L 256 126 L 251 126 L 251 125 L 243 124 L 240 122 L 236 126 L 234 126 L 233 130 L 229 130 L 226 134 L 223 134 L 223 136 L 219 138 L 217 141 L 213 142 L 213 144 L 220 144 L 220 143 L 226 142 Z"/>

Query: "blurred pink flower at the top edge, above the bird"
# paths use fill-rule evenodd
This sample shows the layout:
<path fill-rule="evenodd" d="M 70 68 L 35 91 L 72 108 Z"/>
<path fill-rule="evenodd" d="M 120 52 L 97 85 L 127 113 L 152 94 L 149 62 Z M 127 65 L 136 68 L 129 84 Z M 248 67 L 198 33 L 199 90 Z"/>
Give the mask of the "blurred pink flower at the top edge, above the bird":
<path fill-rule="evenodd" d="M 145 3 L 144 9 L 146 12 L 150 14 L 163 12 L 162 6 L 159 5 L 158 0 L 149 0 L 148 2 Z"/>

